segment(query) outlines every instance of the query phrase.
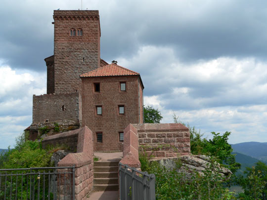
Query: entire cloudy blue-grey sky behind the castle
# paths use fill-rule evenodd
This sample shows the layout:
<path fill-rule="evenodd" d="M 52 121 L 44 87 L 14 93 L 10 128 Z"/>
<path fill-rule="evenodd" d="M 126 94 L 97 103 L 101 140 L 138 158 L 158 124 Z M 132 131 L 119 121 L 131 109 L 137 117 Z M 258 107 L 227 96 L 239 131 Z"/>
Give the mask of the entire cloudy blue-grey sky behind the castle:
<path fill-rule="evenodd" d="M 0 148 L 32 122 L 32 95 L 46 93 L 54 9 L 81 0 L 1 0 Z M 267 142 L 266 0 L 83 0 L 97 9 L 101 58 L 139 72 L 145 105 L 162 122 L 231 131 L 232 144 Z"/>

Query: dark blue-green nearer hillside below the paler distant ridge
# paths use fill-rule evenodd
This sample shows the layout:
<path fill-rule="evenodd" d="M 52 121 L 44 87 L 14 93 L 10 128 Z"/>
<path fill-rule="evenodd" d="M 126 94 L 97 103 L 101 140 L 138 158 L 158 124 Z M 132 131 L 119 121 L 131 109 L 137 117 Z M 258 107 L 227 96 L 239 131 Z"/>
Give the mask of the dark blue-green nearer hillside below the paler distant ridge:
<path fill-rule="evenodd" d="M 233 152 L 232 154 L 236 154 L 235 161 L 241 164 L 241 168 L 237 170 L 236 174 L 243 174 L 246 167 L 255 166 L 256 162 L 262 161 L 237 152 Z"/>

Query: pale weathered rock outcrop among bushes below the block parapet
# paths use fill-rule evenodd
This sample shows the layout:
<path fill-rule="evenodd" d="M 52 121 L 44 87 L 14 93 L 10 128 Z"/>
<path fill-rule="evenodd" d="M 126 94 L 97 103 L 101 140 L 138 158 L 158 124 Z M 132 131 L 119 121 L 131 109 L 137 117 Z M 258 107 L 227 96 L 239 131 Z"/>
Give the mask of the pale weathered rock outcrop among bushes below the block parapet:
<path fill-rule="evenodd" d="M 204 155 L 186 155 L 178 158 L 159 159 L 155 161 L 159 162 L 160 165 L 165 166 L 167 169 L 175 169 L 177 165 L 179 165 L 177 171 L 185 173 L 188 178 L 191 177 L 194 171 L 198 172 L 200 175 L 204 175 L 203 171 L 208 169 L 211 165 L 210 157 Z M 214 170 L 222 174 L 223 177 L 232 174 L 229 169 L 222 167 L 219 163 L 215 164 L 217 167 L 215 167 Z"/>

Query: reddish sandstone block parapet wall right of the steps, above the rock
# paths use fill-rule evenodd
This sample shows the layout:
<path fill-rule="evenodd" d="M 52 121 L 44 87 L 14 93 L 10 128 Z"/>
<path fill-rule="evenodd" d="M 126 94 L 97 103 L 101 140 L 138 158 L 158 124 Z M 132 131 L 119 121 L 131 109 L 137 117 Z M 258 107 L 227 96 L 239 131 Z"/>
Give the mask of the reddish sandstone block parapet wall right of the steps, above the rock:
<path fill-rule="evenodd" d="M 189 129 L 181 123 L 133 124 L 139 137 L 139 151 L 158 158 L 190 154 Z"/>

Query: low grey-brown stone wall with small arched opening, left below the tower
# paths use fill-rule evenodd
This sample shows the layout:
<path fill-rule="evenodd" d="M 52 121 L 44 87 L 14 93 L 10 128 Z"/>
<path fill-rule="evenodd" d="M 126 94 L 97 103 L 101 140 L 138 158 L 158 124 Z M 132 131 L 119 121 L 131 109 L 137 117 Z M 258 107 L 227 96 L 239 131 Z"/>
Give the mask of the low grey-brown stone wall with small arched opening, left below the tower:
<path fill-rule="evenodd" d="M 33 95 L 33 123 L 73 120 L 79 123 L 79 93 Z"/>

